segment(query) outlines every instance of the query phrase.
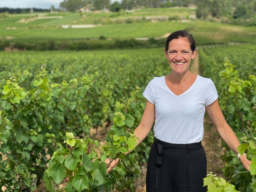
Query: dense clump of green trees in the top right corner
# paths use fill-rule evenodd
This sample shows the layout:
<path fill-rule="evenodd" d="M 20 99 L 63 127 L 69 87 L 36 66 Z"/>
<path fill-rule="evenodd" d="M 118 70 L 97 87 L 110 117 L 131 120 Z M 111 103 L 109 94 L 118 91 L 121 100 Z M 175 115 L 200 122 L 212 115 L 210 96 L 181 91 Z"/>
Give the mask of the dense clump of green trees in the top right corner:
<path fill-rule="evenodd" d="M 256 15 L 256 0 L 196 0 L 196 15 L 206 19 L 209 15 L 220 18 L 248 19 Z"/>

